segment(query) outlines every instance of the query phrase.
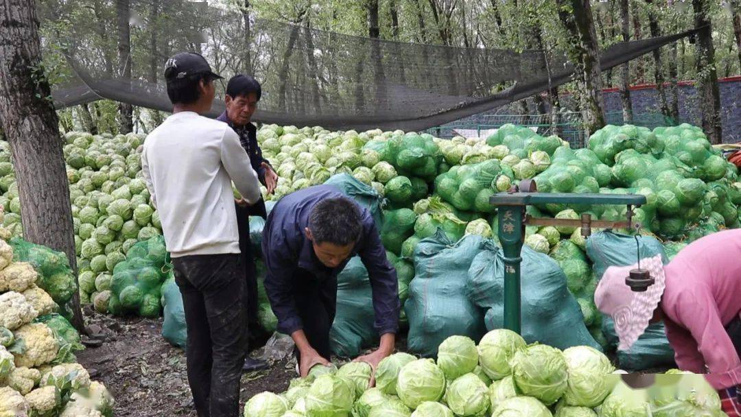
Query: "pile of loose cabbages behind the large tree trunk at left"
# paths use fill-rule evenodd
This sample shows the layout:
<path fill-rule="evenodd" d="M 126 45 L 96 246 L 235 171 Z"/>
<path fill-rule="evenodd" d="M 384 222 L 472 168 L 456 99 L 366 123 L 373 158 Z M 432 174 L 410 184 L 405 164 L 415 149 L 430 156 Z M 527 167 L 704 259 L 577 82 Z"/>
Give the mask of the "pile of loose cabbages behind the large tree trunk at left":
<path fill-rule="evenodd" d="M 159 213 L 142 179 L 144 139 L 134 133 L 64 135 L 83 304 L 110 290 L 113 268 L 134 244 L 162 234 Z M 0 206 L 7 213 L 4 226 L 13 236 L 21 236 L 18 185 L 4 141 L 0 141 L 0 191 Z"/>

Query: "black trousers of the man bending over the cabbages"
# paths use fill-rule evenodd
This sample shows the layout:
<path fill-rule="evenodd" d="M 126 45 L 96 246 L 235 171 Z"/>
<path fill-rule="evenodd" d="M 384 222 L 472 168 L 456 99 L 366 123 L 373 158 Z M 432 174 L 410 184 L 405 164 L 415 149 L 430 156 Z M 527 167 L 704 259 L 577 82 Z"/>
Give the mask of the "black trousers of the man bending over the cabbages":
<path fill-rule="evenodd" d="M 317 278 L 307 270 L 293 274 L 293 297 L 311 347 L 330 360 L 329 332 L 337 311 L 337 278 Z M 301 363 L 298 349 L 293 350 Z"/>

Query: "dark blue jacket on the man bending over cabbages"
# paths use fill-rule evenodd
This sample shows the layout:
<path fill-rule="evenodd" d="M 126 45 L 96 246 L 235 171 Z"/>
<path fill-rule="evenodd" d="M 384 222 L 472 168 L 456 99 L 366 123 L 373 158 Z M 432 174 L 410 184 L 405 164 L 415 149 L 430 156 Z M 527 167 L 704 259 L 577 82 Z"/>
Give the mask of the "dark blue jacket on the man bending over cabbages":
<path fill-rule="evenodd" d="M 358 206 L 362 213 L 363 230 L 350 258 L 339 267 L 328 268 L 322 264 L 306 237 L 309 214 L 316 203 L 337 197 L 345 195 L 329 185 L 308 187 L 283 197 L 268 215 L 262 230 L 262 256 L 268 270 L 265 292 L 278 318 L 278 330 L 290 335 L 303 328 L 293 300 L 294 271 L 300 268 L 319 279 L 332 278 L 339 275 L 350 258 L 359 255 L 371 279 L 376 330 L 379 335 L 396 333 L 401 308 L 399 282 L 396 270 L 386 258 L 386 250 L 371 213 L 365 207 Z"/>

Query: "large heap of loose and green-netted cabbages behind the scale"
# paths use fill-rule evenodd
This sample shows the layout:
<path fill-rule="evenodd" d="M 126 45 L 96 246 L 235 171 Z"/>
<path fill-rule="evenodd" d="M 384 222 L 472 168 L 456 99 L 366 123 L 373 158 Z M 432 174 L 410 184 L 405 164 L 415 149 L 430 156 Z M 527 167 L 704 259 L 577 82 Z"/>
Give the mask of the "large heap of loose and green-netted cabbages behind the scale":
<path fill-rule="evenodd" d="M 330 132 L 266 125 L 258 140 L 280 177 L 276 194 L 268 199 L 351 173 L 385 196 L 383 244 L 408 263 L 417 242 L 438 228 L 453 241 L 466 234 L 496 240 L 499 219 L 488 199 L 522 179 L 535 179 L 542 192 L 645 195 L 648 204 L 635 209 L 634 218 L 642 223 L 640 233 L 665 241 L 670 258 L 690 241 L 739 226 L 737 168 L 710 147 L 699 128 L 686 124 L 653 132 L 610 125 L 579 150 L 557 136 L 512 124 L 486 139 L 451 140 L 400 130 Z M 528 215 L 578 219 L 591 213 L 595 219 L 622 220 L 625 209 L 548 204 L 528 207 Z M 559 263 L 585 324 L 605 343 L 593 302 L 597 281 L 580 230 L 526 227 L 525 244 Z"/>

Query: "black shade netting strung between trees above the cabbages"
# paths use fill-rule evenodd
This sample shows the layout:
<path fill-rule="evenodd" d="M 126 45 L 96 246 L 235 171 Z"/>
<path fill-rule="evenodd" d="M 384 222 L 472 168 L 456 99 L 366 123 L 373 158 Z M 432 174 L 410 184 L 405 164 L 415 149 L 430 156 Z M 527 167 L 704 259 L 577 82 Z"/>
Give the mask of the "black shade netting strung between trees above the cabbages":
<path fill-rule="evenodd" d="M 227 79 L 255 76 L 262 99 L 253 120 L 333 129 L 422 130 L 534 96 L 574 73 L 562 53 L 382 41 L 205 2 L 44 0 L 40 9 L 73 73 L 53 91 L 58 108 L 112 99 L 170 111 L 162 74 L 167 58 L 182 51 L 201 53 Z M 119 48 L 119 16 L 130 22 L 130 54 Z M 600 66 L 607 70 L 690 33 L 615 44 L 602 51 Z M 224 107 L 217 99 L 209 116 Z"/>

